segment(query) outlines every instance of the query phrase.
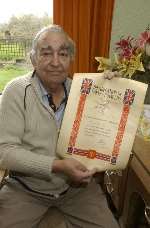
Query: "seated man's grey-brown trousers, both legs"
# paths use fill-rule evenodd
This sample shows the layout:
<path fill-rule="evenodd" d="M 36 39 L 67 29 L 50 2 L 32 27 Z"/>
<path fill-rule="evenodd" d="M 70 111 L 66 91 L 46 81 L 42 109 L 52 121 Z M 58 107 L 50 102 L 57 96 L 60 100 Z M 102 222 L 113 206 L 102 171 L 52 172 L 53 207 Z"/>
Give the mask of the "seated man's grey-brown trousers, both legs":
<path fill-rule="evenodd" d="M 52 210 L 51 210 L 52 208 Z M 59 198 L 33 194 L 18 182 L 10 182 L 0 190 L 0 228 L 52 228 L 40 223 L 47 211 L 59 211 L 64 223 L 55 228 L 118 228 L 99 184 L 70 187 Z M 57 216 L 56 216 L 57 220 Z M 56 221 L 57 223 L 57 221 Z"/>

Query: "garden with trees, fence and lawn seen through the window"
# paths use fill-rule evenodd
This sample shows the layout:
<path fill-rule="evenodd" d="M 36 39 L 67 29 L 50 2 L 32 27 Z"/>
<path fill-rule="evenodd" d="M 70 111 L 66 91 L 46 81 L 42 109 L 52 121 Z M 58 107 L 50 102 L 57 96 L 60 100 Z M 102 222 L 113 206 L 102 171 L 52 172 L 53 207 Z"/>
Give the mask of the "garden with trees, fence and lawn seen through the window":
<path fill-rule="evenodd" d="M 0 92 L 11 79 L 32 70 L 29 53 L 32 39 L 44 26 L 52 23 L 45 14 L 12 16 L 9 23 L 0 24 Z"/>

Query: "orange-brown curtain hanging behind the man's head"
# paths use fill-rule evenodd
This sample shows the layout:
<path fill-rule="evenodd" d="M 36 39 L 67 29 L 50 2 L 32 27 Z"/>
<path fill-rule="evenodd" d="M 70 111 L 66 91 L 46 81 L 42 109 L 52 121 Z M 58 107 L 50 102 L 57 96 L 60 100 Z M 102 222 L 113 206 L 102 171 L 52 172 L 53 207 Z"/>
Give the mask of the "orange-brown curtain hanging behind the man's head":
<path fill-rule="evenodd" d="M 95 56 L 108 57 L 114 1 L 54 0 L 54 24 L 76 43 L 71 72 L 96 72 Z"/>

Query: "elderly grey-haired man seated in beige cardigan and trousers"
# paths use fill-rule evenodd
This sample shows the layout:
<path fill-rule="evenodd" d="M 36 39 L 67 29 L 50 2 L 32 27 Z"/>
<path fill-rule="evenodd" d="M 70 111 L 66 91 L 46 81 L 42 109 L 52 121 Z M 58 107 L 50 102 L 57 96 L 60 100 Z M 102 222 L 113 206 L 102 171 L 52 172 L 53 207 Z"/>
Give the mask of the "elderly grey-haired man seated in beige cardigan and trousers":
<path fill-rule="evenodd" d="M 92 178 L 95 171 L 55 153 L 74 54 L 74 43 L 61 27 L 42 29 L 31 51 L 34 72 L 3 91 L 0 167 L 10 176 L 0 191 L 1 228 L 38 227 L 51 208 L 63 215 L 66 228 L 118 227 Z"/>

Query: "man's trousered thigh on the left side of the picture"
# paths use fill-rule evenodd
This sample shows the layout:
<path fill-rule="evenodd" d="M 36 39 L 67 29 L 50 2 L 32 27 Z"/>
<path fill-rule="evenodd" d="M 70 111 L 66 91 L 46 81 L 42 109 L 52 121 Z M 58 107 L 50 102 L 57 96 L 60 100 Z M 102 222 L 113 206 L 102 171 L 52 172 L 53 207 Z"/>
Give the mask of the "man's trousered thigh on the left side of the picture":
<path fill-rule="evenodd" d="M 36 227 L 47 207 L 20 188 L 8 184 L 0 190 L 0 227 Z"/>

